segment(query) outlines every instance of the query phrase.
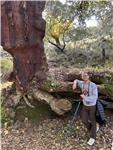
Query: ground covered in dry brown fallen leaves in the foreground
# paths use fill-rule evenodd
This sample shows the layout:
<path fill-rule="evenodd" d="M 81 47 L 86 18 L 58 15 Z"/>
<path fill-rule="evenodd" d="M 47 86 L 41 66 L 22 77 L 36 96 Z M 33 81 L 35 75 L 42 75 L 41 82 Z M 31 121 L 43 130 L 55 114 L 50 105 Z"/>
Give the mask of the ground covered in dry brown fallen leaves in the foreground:
<path fill-rule="evenodd" d="M 43 119 L 33 123 L 17 120 L 1 131 L 2 150 L 113 150 L 113 112 L 106 112 L 107 124 L 100 127 L 95 144 L 87 145 L 88 133 L 80 117 L 74 123 L 73 135 L 65 138 L 68 117 Z"/>

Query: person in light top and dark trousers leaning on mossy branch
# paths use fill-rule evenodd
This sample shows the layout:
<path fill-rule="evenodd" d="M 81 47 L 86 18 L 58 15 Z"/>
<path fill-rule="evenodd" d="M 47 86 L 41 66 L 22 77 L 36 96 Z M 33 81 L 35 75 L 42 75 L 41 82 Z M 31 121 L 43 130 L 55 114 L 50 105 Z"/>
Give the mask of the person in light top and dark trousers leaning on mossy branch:
<path fill-rule="evenodd" d="M 90 81 L 88 72 L 82 72 L 82 80 L 74 80 L 73 90 L 80 87 L 82 94 L 80 95 L 83 101 L 82 121 L 90 132 L 89 145 L 93 145 L 96 139 L 96 101 L 98 99 L 98 90 L 95 83 Z"/>

